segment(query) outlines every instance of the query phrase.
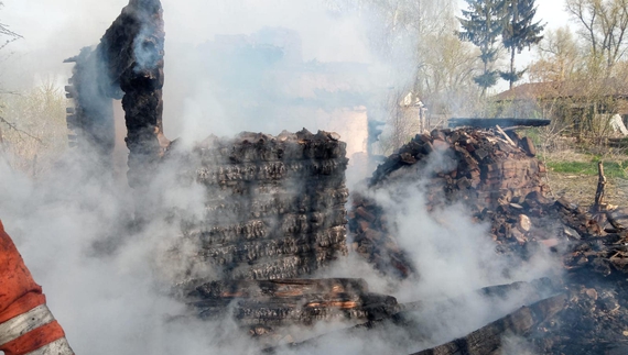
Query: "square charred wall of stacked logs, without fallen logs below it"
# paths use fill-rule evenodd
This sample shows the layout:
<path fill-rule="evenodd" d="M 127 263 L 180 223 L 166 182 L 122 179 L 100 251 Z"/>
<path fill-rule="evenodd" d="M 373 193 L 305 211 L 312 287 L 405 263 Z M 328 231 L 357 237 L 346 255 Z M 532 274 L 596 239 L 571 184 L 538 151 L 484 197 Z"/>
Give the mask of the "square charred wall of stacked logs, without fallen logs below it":
<path fill-rule="evenodd" d="M 312 275 L 347 254 L 346 144 L 335 133 L 210 137 L 188 156 L 205 214 L 183 225 L 218 279 Z"/>

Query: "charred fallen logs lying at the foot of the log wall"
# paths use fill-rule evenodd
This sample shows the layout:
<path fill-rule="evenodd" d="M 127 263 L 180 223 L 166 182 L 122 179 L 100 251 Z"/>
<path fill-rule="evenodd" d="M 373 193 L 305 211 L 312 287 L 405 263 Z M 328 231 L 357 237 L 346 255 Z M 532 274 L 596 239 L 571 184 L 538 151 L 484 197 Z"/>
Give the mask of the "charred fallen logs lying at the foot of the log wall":
<path fill-rule="evenodd" d="M 231 312 L 253 336 L 321 321 L 380 320 L 399 311 L 393 297 L 370 293 L 362 279 L 213 281 L 198 286 L 188 297 L 188 304 L 202 319 Z"/>

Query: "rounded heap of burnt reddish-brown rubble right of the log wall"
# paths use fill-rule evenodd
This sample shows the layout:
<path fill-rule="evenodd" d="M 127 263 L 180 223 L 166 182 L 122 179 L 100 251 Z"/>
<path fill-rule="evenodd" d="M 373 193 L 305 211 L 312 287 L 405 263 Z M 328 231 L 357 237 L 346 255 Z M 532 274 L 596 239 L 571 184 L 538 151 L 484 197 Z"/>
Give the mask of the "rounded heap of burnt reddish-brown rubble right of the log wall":
<path fill-rule="evenodd" d="M 494 240 L 524 243 L 535 237 L 527 210 L 540 211 L 537 202 L 549 191 L 545 166 L 534 154 L 532 142 L 513 132 L 498 136 L 474 129 L 433 131 L 416 135 L 381 164 L 369 189 L 420 181 L 429 211 L 464 201 L 476 219 L 492 222 Z M 397 246 L 382 209 L 358 193 L 353 195 L 353 207 L 354 248 L 376 268 L 391 265 L 393 275 L 408 277 L 413 266 Z"/>

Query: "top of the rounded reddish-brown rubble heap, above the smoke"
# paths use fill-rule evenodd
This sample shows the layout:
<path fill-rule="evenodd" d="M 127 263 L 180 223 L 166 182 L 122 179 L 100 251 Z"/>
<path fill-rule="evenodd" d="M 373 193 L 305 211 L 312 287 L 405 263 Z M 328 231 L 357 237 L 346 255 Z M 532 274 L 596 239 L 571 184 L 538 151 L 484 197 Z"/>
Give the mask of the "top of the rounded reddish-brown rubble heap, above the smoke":
<path fill-rule="evenodd" d="M 516 146 L 492 131 L 474 129 L 418 135 L 377 168 L 370 185 L 394 180 L 399 175 L 397 170 L 407 174 L 409 167 L 421 173 L 426 157 L 435 152 L 431 156 L 440 156 L 442 164 L 436 164 L 433 171 L 423 171 L 423 178 L 429 179 L 427 197 L 433 207 L 453 200 L 495 207 L 500 200 L 520 199 L 532 191 L 545 195 L 549 188 L 542 178 L 546 169 L 530 156 L 531 142 L 515 133 L 510 138 Z"/>

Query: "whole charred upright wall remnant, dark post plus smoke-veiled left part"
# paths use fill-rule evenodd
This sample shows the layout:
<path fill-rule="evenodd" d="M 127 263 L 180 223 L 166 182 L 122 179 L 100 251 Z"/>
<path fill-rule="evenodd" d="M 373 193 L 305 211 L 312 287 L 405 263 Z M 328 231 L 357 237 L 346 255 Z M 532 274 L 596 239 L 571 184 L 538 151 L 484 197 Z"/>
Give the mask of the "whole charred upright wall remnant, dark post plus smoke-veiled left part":
<path fill-rule="evenodd" d="M 66 87 L 76 106 L 68 126 L 105 155 L 115 140 L 111 100 L 122 100 L 131 187 L 145 180 L 170 144 L 162 123 L 163 27 L 160 0 L 130 0 L 95 49 L 66 59 L 76 63 L 74 86 Z"/>

